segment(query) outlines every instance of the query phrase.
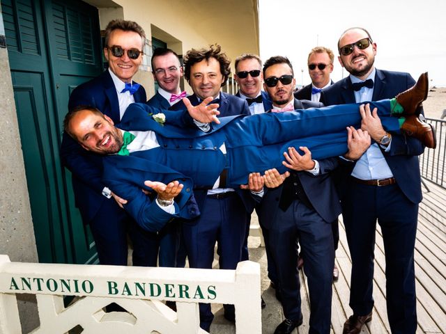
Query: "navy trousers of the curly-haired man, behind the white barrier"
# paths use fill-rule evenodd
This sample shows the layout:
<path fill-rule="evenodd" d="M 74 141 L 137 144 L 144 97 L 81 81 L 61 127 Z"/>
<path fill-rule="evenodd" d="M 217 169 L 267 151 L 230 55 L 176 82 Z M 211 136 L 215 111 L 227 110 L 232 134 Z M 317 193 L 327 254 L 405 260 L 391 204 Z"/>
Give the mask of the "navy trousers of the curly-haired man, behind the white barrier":
<path fill-rule="evenodd" d="M 197 223 L 183 225 L 190 267 L 211 269 L 217 241 L 220 269 L 236 269 L 245 239 L 246 217 L 245 205 L 235 192 L 221 199 L 208 196 Z M 210 304 L 200 303 L 199 308 L 200 326 L 209 331 L 214 318 Z M 224 305 L 224 312 L 234 312 L 233 305 Z"/>

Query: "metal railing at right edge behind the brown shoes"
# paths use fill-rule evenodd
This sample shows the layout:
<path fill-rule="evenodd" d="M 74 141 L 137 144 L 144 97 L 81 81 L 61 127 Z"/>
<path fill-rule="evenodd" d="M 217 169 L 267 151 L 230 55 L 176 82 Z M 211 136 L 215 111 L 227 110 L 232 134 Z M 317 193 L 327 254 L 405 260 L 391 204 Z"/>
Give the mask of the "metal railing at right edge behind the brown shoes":
<path fill-rule="evenodd" d="M 426 118 L 436 130 L 437 148 L 426 148 L 420 157 L 420 170 L 424 179 L 446 189 L 445 157 L 446 157 L 446 121 Z"/>

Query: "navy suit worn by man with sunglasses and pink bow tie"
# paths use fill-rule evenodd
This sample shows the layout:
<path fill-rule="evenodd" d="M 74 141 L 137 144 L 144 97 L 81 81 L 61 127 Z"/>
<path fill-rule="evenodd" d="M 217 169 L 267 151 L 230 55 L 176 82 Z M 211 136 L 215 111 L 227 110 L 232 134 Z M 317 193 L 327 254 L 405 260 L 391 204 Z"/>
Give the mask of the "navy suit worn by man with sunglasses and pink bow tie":
<path fill-rule="evenodd" d="M 294 108 L 321 106 L 321 103 L 294 100 Z M 305 111 L 303 111 L 305 113 Z M 297 131 L 297 129 L 295 130 Z M 308 278 L 311 310 L 309 333 L 330 333 L 334 247 L 331 222 L 341 213 L 339 198 L 330 177 L 338 166 L 336 157 L 318 161 L 320 174 L 291 171 L 284 184 L 267 189 L 261 200 L 259 217 L 267 232 L 270 253 L 277 273 L 277 289 L 282 296 L 286 319 L 298 321 L 301 312 L 298 252 L 300 244 Z M 308 202 L 296 195 L 301 185 Z M 265 234 L 265 233 L 264 233 Z M 308 253 L 307 253 L 308 252 Z"/>

